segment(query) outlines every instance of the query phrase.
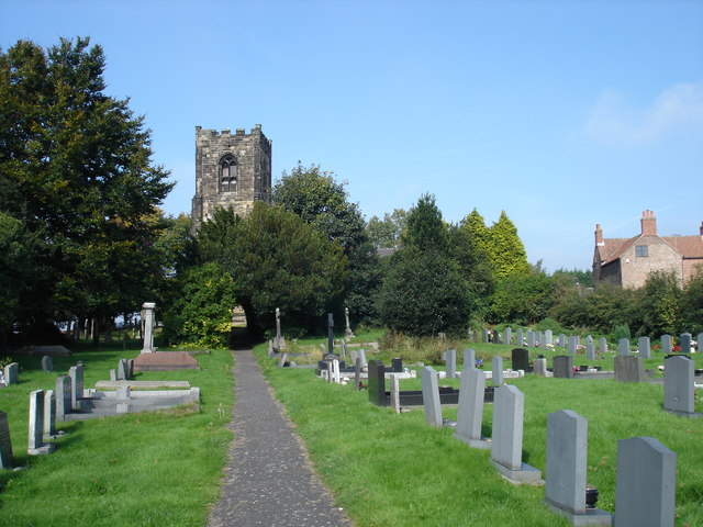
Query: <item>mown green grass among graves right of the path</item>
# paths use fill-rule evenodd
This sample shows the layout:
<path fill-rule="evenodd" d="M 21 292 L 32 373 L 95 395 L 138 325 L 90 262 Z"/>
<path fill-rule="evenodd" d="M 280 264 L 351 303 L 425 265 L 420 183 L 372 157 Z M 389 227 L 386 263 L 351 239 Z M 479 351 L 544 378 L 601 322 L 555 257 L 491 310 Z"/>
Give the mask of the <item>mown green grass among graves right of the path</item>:
<path fill-rule="evenodd" d="M 488 356 L 503 354 L 495 348 L 507 355 L 512 349 L 486 346 L 492 348 Z M 328 384 L 311 370 L 276 368 L 265 347 L 256 352 L 336 504 L 355 525 L 569 525 L 542 504 L 544 487 L 505 482 L 490 466 L 490 451 L 469 448 L 450 428 L 427 426 L 421 407 L 397 415 L 369 404 L 367 392 L 355 391 L 352 383 Z M 649 436 L 678 455 L 676 525 L 703 525 L 703 419 L 665 412 L 662 385 L 535 377 L 509 382 L 525 393 L 523 461 L 542 470 L 543 478 L 547 413 L 573 410 L 589 421 L 588 482 L 600 492 L 600 508 L 615 511 L 617 440 Z M 458 380 L 440 384 L 458 386 Z M 419 388 L 419 380 L 401 381 L 401 390 Z M 456 406 L 444 406 L 443 413 L 455 419 Z M 487 437 L 491 417 L 487 404 Z"/>

